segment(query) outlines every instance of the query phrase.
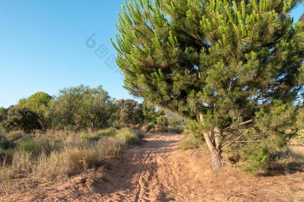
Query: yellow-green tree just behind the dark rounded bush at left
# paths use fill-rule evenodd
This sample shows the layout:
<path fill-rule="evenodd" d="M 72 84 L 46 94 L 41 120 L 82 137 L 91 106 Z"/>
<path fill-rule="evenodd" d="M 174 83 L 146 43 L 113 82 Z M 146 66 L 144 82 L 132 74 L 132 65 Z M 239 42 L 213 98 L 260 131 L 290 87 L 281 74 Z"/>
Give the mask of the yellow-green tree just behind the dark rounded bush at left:
<path fill-rule="evenodd" d="M 52 121 L 52 111 L 49 110 L 50 103 L 53 101 L 53 97 L 45 92 L 36 92 L 28 98 L 22 98 L 18 102 L 18 106 L 25 106 L 35 113 L 39 117 L 39 123 L 43 130 L 46 130 Z"/>

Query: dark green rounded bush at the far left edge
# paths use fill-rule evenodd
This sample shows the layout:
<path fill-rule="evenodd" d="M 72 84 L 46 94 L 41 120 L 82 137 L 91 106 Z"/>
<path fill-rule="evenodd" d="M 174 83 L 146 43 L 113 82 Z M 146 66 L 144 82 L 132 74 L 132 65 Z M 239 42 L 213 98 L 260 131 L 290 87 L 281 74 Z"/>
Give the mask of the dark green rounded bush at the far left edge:
<path fill-rule="evenodd" d="M 31 109 L 15 106 L 8 110 L 7 118 L 2 126 L 6 131 L 22 130 L 28 133 L 41 129 L 38 119 L 38 115 Z"/>

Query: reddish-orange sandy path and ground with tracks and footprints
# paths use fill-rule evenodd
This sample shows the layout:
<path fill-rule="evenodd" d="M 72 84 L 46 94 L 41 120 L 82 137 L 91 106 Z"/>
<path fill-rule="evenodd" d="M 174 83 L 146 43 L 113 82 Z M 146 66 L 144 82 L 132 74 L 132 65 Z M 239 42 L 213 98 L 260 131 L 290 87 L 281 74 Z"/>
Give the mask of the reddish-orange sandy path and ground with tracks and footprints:
<path fill-rule="evenodd" d="M 178 149 L 183 136 L 146 134 L 145 142 L 111 160 L 50 186 L 3 201 L 73 202 L 284 202 L 304 200 L 304 173 L 268 172 L 249 176 L 229 166 L 210 169 L 205 150 Z"/>

